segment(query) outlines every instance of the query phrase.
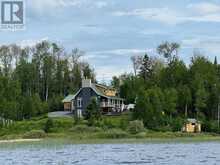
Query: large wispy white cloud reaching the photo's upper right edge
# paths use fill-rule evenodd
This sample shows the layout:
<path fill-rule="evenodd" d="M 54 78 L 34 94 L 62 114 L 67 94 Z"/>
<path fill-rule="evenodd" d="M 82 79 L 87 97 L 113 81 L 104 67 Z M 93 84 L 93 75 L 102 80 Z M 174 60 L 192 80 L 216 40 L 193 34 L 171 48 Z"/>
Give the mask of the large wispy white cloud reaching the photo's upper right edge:
<path fill-rule="evenodd" d="M 185 22 L 220 22 L 220 5 L 212 3 L 189 4 L 184 10 L 176 10 L 167 7 L 162 8 L 138 8 L 127 11 L 115 11 L 114 16 L 134 16 L 147 21 L 156 21 L 168 25 L 176 25 Z"/>

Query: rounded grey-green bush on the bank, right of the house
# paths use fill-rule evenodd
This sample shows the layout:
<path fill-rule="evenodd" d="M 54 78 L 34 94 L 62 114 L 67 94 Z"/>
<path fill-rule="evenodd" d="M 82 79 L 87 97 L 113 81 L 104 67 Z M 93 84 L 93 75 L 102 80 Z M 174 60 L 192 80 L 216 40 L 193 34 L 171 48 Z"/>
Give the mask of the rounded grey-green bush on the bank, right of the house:
<path fill-rule="evenodd" d="M 128 131 L 131 134 L 137 134 L 137 133 L 143 132 L 144 131 L 143 121 L 135 120 L 135 121 L 129 122 Z"/>

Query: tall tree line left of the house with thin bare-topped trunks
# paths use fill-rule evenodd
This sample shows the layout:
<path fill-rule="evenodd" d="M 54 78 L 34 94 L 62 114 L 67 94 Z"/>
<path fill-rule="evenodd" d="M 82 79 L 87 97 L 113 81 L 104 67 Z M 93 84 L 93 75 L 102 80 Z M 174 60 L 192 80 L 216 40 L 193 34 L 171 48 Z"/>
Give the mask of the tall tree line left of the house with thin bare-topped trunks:
<path fill-rule="evenodd" d="M 0 46 L 0 116 L 22 120 L 62 110 L 61 100 L 80 88 L 82 77 L 95 81 L 83 54 L 49 41 Z"/>

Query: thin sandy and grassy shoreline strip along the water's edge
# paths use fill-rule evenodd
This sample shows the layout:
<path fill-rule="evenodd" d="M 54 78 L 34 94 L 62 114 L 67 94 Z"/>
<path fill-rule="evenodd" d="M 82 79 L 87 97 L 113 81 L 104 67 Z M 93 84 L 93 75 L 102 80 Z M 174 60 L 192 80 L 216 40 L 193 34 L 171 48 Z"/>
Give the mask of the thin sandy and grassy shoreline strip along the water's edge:
<path fill-rule="evenodd" d="M 133 143 L 197 143 L 220 142 L 220 136 L 195 136 L 195 137 L 147 137 L 147 138 L 94 138 L 71 139 L 70 137 L 47 137 L 42 139 L 10 139 L 0 140 L 0 144 L 12 143 L 60 143 L 60 144 L 133 144 Z"/>

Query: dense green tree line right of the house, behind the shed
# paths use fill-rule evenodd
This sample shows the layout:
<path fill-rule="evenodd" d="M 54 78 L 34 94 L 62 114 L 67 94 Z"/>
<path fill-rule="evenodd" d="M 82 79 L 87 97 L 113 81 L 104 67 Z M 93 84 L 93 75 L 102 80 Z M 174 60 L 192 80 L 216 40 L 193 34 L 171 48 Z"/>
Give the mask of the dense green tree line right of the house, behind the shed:
<path fill-rule="evenodd" d="M 178 43 L 164 42 L 161 57 L 133 56 L 134 74 L 113 77 L 112 85 L 127 103 L 135 103 L 133 118 L 156 130 L 180 130 L 187 118 L 219 131 L 220 65 L 194 52 L 189 65 L 178 56 Z"/>

